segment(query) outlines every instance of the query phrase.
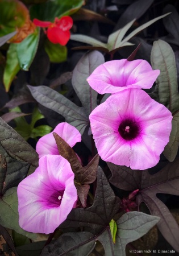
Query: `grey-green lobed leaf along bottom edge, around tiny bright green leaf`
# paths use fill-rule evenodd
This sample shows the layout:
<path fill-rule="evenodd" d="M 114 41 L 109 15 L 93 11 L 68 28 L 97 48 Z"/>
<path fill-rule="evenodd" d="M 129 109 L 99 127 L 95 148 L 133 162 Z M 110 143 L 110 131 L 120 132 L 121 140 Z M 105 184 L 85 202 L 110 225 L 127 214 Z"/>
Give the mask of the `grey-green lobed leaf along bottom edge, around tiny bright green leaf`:
<path fill-rule="evenodd" d="M 91 218 L 91 220 L 93 220 Z M 45 246 L 41 256 L 89 255 L 94 249 L 96 241 L 102 243 L 105 255 L 126 256 L 126 245 L 138 240 L 157 222 L 159 217 L 150 216 L 141 212 L 128 212 L 116 221 L 116 241 L 113 242 L 110 227 L 106 226 L 100 234 L 95 236 L 89 232 L 65 233 L 56 241 Z"/>

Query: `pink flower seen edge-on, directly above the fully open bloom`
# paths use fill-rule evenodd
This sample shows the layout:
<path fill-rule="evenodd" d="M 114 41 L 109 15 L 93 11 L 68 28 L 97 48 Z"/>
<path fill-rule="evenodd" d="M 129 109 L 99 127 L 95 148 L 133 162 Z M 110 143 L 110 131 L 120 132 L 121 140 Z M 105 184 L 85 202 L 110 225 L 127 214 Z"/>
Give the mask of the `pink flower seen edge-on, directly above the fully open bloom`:
<path fill-rule="evenodd" d="M 111 60 L 99 65 L 87 81 L 100 94 L 116 93 L 127 88 L 149 89 L 159 74 L 146 60 Z"/>

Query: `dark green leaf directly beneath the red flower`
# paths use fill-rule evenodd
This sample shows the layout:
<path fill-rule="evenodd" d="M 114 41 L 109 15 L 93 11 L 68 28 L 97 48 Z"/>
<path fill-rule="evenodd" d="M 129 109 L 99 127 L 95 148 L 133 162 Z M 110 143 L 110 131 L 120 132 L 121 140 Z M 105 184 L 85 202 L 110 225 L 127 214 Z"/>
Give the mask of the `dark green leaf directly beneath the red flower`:
<path fill-rule="evenodd" d="M 52 63 L 61 63 L 66 61 L 68 51 L 66 46 L 53 44 L 47 39 L 45 40 L 44 47 Z"/>

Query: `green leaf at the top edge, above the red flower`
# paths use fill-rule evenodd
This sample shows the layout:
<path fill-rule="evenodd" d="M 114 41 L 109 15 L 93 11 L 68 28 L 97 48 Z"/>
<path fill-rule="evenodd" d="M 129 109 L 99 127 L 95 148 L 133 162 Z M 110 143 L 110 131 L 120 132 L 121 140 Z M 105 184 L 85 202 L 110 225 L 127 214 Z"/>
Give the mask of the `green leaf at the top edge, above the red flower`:
<path fill-rule="evenodd" d="M 84 4 L 84 0 L 49 0 L 30 9 L 31 19 L 48 20 L 53 22 L 56 17 L 72 15 Z"/>

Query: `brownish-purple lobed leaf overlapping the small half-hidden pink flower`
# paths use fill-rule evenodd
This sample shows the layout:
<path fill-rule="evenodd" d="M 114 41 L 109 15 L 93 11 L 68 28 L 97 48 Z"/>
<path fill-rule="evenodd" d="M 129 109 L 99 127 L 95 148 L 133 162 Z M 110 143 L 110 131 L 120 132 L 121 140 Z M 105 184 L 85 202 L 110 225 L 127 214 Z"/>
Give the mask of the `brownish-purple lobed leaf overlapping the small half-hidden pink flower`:
<path fill-rule="evenodd" d="M 74 172 L 74 184 L 76 185 L 78 196 L 82 207 L 86 207 L 86 199 L 90 188 L 88 184 L 93 183 L 97 177 L 99 155 L 95 155 L 87 166 L 82 167 L 73 148 L 71 148 L 58 134 L 53 133 L 53 136 L 57 143 L 60 155 L 68 160 L 72 167 L 72 171 Z"/>

